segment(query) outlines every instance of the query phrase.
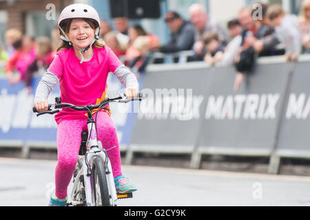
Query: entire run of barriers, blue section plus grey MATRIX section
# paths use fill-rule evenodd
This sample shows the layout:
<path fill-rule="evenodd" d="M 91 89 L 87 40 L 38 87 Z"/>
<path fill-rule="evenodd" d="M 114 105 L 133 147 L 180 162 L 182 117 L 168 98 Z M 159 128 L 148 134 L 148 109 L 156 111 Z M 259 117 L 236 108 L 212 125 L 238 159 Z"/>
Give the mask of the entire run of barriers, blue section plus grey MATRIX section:
<path fill-rule="evenodd" d="M 136 152 L 176 153 L 191 155 L 190 167 L 200 168 L 203 155 L 238 155 L 268 157 L 268 172 L 278 173 L 283 157 L 310 159 L 308 69 L 309 55 L 298 63 L 285 63 L 283 56 L 260 58 L 234 91 L 234 67 L 149 65 L 139 78 L 146 98 L 138 113 L 112 109 L 125 163 L 132 164 Z M 109 85 L 121 89 L 116 78 Z M 56 123 L 32 113 L 33 96 L 22 83 L 12 86 L 0 77 L 0 104 L 6 106 L 0 146 L 22 148 L 26 158 L 30 148 L 56 148 Z M 51 102 L 54 96 L 59 88 Z"/>

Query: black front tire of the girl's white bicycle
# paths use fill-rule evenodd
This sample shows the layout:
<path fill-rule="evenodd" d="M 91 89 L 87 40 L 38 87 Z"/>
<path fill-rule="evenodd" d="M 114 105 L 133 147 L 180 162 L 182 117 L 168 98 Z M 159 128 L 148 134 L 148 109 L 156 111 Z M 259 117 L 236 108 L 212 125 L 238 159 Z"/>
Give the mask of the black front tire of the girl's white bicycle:
<path fill-rule="evenodd" d="M 94 157 L 92 165 L 95 206 L 111 206 L 110 193 L 105 175 L 105 162 L 99 156 Z"/>

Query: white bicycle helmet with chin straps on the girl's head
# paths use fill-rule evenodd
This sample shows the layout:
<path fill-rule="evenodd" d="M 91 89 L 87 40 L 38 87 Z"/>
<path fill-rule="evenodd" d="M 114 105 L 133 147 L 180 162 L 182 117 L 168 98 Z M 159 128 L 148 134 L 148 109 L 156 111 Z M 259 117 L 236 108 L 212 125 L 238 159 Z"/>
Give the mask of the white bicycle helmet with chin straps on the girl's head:
<path fill-rule="evenodd" d="M 81 48 L 81 47 L 76 47 L 75 45 L 72 44 L 68 35 L 65 34 L 63 29 L 61 28 L 63 21 L 65 21 L 67 19 L 92 19 L 94 21 L 97 28 L 95 31 L 94 40 L 92 41 L 92 43 L 90 45 L 88 45 L 85 48 Z M 79 52 L 80 52 L 81 57 L 82 57 L 81 63 L 83 63 L 83 54 L 81 53 L 81 51 L 83 51 L 84 53 L 87 52 L 87 50 L 94 44 L 94 42 L 96 40 L 99 40 L 99 33 L 100 33 L 99 14 L 90 5 L 85 5 L 85 4 L 81 4 L 81 3 L 68 5 L 67 7 L 65 7 L 63 9 L 63 11 L 61 12 L 61 14 L 59 16 L 58 28 L 59 28 L 59 30 L 61 30 L 61 33 L 63 34 L 60 36 L 60 38 L 63 39 L 63 41 L 69 42 L 69 45 L 72 45 L 72 46 L 79 49 Z"/>

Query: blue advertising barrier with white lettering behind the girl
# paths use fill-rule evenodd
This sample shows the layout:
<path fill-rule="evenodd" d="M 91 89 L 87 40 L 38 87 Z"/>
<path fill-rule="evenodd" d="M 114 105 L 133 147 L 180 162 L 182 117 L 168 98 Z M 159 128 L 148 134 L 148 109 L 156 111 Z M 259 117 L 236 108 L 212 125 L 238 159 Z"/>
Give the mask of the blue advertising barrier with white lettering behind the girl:
<path fill-rule="evenodd" d="M 29 158 L 32 149 L 56 149 L 54 117 L 51 115 L 37 117 L 32 112 L 34 92 L 42 74 L 43 72 L 40 72 L 34 76 L 31 94 L 28 94 L 23 83 L 10 85 L 5 75 L 0 76 L 0 147 L 21 149 L 23 158 Z M 138 79 L 139 83 L 142 80 L 143 76 Z M 123 89 L 123 85 L 112 74 L 108 77 L 108 85 L 110 90 Z M 53 103 L 54 98 L 59 94 L 59 86 L 56 86 L 48 102 Z M 110 104 L 111 117 L 116 126 L 122 152 L 127 151 L 134 124 L 135 115 L 126 111 L 132 107 L 131 104 L 124 104 L 125 107 L 118 107 L 115 103 Z"/>

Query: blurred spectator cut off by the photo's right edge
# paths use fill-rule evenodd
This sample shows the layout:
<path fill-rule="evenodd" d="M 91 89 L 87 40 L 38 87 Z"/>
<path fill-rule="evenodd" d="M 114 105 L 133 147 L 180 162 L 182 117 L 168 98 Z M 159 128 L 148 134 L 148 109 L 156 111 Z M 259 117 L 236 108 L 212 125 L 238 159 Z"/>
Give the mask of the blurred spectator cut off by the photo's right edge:
<path fill-rule="evenodd" d="M 302 46 L 304 52 L 310 53 L 310 0 L 302 1 L 302 12 L 298 17 L 302 32 Z"/>

